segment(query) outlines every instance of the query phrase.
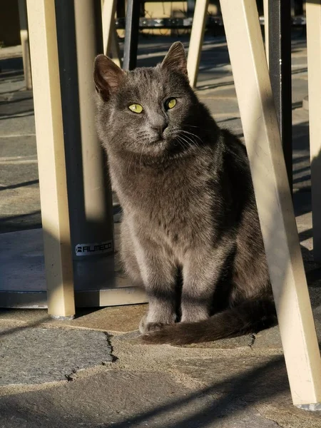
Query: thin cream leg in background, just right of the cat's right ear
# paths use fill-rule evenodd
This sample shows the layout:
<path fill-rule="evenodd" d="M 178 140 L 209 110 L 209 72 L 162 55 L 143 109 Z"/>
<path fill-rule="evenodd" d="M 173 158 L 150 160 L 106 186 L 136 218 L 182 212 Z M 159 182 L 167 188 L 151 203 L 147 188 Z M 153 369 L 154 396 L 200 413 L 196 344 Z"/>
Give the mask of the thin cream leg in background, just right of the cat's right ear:
<path fill-rule="evenodd" d="M 198 81 L 198 67 L 200 66 L 200 54 L 202 52 L 206 13 L 208 11 L 208 0 L 197 0 L 193 16 L 193 26 L 190 33 L 190 46 L 188 49 L 188 78 L 190 86 L 196 86 Z"/>

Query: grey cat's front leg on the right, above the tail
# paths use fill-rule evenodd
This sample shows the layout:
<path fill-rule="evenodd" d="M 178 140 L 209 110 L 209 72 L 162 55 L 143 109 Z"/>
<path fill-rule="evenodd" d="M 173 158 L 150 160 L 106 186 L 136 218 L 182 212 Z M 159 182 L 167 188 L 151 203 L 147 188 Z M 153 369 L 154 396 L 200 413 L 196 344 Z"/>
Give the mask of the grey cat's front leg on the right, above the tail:
<path fill-rule="evenodd" d="M 215 287 L 230 250 L 196 248 L 185 255 L 181 297 L 182 322 L 198 322 L 210 317 Z"/>

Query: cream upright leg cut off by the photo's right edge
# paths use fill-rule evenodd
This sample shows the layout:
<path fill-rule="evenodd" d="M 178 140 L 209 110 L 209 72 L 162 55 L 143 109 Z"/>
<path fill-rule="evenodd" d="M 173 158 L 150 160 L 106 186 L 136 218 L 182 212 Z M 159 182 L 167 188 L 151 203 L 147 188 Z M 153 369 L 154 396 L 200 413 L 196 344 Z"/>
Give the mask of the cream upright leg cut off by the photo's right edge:
<path fill-rule="evenodd" d="M 321 0 L 306 8 L 313 255 L 321 262 Z"/>

